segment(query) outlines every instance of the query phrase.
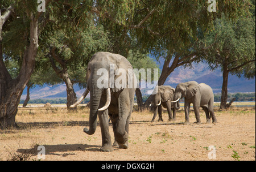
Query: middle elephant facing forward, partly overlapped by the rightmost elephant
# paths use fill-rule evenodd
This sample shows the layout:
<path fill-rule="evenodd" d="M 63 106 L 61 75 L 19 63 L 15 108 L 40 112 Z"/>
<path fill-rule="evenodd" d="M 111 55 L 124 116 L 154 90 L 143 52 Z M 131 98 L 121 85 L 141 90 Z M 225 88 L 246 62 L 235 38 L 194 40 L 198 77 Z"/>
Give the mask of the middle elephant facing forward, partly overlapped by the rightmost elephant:
<path fill-rule="evenodd" d="M 162 117 L 162 106 L 168 111 L 169 119 L 168 121 L 175 121 L 176 119 L 176 109 L 174 108 L 173 101 L 175 89 L 169 85 L 160 85 L 158 86 L 158 92 L 154 94 L 153 104 L 154 104 L 154 116 L 152 121 L 154 121 L 156 114 L 158 113 L 158 121 L 163 121 Z M 161 101 L 161 104 L 159 102 Z M 178 102 L 179 103 L 179 102 Z M 158 106 L 156 106 L 158 105 Z M 172 116 L 173 112 L 173 116 Z"/>

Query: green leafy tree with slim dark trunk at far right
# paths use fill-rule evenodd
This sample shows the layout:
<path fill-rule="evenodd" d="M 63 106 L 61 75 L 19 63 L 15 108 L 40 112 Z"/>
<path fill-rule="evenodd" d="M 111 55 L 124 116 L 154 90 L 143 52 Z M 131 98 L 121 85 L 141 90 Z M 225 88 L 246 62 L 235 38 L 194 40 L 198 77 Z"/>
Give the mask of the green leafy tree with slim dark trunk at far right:
<path fill-rule="evenodd" d="M 255 8 L 255 6 L 254 6 Z M 222 90 L 220 109 L 228 108 L 228 77 L 255 77 L 255 16 L 232 21 L 223 14 L 214 23 L 214 30 L 205 38 L 210 49 L 205 51 L 212 70 L 221 67 Z"/>

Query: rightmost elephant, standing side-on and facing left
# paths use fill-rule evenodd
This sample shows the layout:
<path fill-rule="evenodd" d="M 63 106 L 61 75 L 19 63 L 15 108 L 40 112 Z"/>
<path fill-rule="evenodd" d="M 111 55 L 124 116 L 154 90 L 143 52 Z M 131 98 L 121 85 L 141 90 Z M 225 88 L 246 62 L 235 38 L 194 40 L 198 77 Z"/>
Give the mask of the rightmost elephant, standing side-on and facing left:
<path fill-rule="evenodd" d="M 199 107 L 201 106 L 207 117 L 207 123 L 210 123 L 210 117 L 212 122 L 216 123 L 217 119 L 213 111 L 214 95 L 212 88 L 204 83 L 197 83 L 196 81 L 188 81 L 186 83 L 180 83 L 177 85 L 174 94 L 174 100 L 172 102 L 178 102 L 180 98 L 185 97 L 185 124 L 189 123 L 189 108 L 190 104 L 193 104 L 193 109 L 196 115 L 196 123 L 200 124 Z M 179 104 L 174 105 L 175 109 L 179 109 Z M 210 113 L 210 116 L 209 116 Z"/>

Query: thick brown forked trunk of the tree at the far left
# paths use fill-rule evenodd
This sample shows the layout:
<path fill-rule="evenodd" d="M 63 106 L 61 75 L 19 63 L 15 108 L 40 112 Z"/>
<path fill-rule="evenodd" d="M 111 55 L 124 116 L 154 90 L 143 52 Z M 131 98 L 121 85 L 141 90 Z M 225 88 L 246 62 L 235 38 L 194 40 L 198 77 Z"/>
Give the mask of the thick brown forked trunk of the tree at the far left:
<path fill-rule="evenodd" d="M 2 25 L 0 27 L 2 29 Z M 2 44 L 0 45 L 0 48 L 2 48 Z M 15 117 L 18 111 L 20 96 L 34 71 L 37 49 L 38 19 L 34 18 L 34 15 L 31 13 L 30 44 L 24 50 L 19 75 L 15 80 L 11 79 L 3 63 L 3 56 L 0 54 L 0 128 L 2 129 L 12 126 L 17 127 Z"/>

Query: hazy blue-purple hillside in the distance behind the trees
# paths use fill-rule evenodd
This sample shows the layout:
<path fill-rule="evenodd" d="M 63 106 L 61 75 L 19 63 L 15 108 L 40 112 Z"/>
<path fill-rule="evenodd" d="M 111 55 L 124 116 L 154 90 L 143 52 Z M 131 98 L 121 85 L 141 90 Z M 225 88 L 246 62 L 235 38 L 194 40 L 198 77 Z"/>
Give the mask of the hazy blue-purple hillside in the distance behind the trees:
<path fill-rule="evenodd" d="M 160 60 L 159 67 L 162 68 L 163 59 Z M 212 87 L 214 93 L 220 93 L 222 87 L 222 72 L 221 70 L 210 71 L 208 66 L 204 63 L 193 64 L 193 68 L 179 67 L 171 73 L 164 85 L 171 85 L 176 87 L 177 84 L 185 81 L 195 80 L 198 83 L 205 83 Z M 77 97 L 80 97 L 85 89 L 80 89 L 78 85 L 74 86 Z M 148 89 L 142 89 L 142 95 L 147 94 Z M 255 92 L 255 79 L 238 78 L 237 76 L 229 76 L 228 83 L 229 93 L 237 92 Z M 21 100 L 26 98 L 27 89 L 24 89 Z M 31 99 L 38 98 L 65 98 L 67 97 L 65 84 L 43 87 L 36 86 L 30 91 Z"/>

